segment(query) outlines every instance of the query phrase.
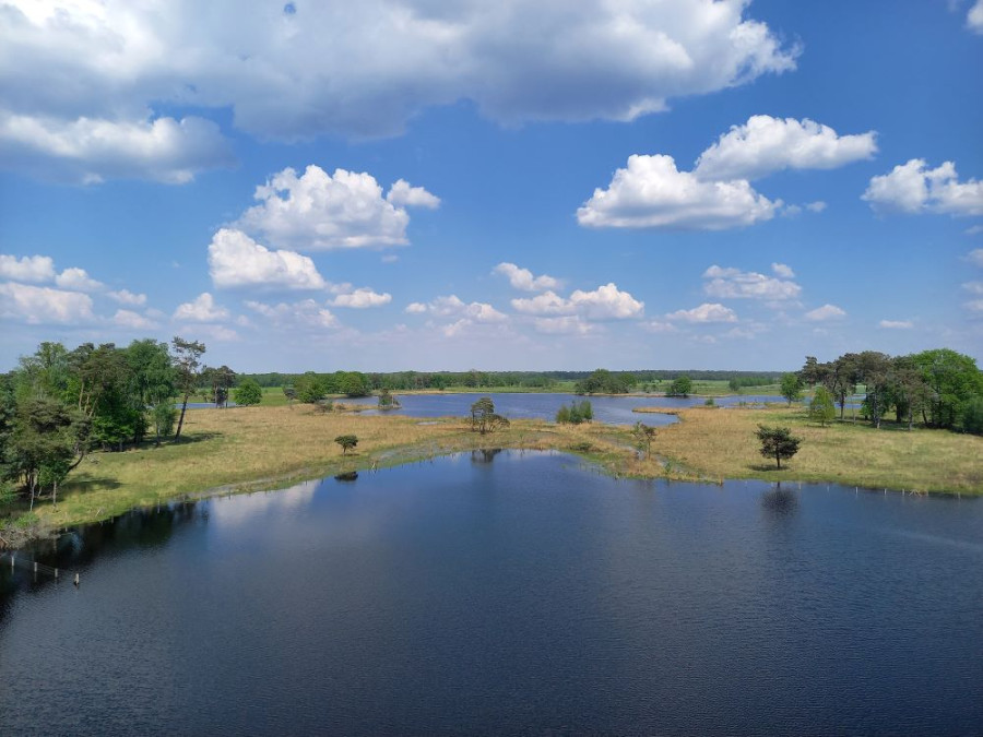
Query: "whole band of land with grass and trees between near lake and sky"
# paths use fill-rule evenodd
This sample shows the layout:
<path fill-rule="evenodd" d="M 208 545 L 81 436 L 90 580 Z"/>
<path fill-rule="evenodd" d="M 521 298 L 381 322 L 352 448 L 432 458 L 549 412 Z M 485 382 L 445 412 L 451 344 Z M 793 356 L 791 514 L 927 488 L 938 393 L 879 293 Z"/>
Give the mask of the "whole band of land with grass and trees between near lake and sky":
<path fill-rule="evenodd" d="M 43 343 L 0 376 L 0 545 L 32 526 L 104 519 L 216 488 L 274 487 L 476 449 L 490 431 L 496 447 L 572 451 L 630 476 L 983 491 L 983 439 L 970 435 L 983 433 L 983 375 L 971 358 L 947 349 L 903 357 L 864 352 L 825 364 L 809 357 L 798 372 L 756 380 L 784 384 L 787 406 L 672 411 L 683 421 L 658 430 L 592 423 L 588 401 L 559 405 L 556 423 L 510 423 L 490 397 L 475 402 L 470 418 L 433 425 L 399 415 L 358 417 L 325 397 L 376 392 L 388 406 L 394 390 L 384 381 L 376 389 L 377 377 L 393 375 L 308 372 L 262 387 L 256 375 L 204 366 L 204 345 L 179 337 L 169 346 L 134 341 L 72 350 Z M 627 372 L 582 373 L 584 393 L 616 394 L 630 385 Z M 663 391 L 683 389 L 684 379 L 665 380 Z M 801 391 L 812 395 L 807 407 L 792 404 Z M 185 412 L 193 399 L 225 407 L 229 394 L 241 406 Z M 857 404 L 866 423 L 856 421 L 855 409 L 845 414 Z M 761 463 L 759 425 L 785 428 L 802 441 L 791 467 Z M 769 457 L 787 460 L 787 450 Z"/>

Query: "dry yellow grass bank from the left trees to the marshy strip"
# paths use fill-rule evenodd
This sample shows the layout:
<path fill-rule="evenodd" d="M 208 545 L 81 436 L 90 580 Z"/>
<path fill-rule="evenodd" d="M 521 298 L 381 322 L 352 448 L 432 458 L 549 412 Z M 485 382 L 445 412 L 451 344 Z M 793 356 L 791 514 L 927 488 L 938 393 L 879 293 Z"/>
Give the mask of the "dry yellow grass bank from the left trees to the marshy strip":
<path fill-rule="evenodd" d="M 358 445 L 343 455 L 334 438 L 348 433 Z M 481 436 L 463 418 L 321 413 L 309 405 L 198 409 L 188 413 L 180 443 L 93 453 L 62 487 L 57 508 L 44 502 L 35 510 L 44 526 L 62 526 L 174 499 L 277 488 L 474 448 L 583 452 L 588 443 L 599 461 L 611 463 L 629 454 L 618 442 L 604 426 L 519 420 Z"/>

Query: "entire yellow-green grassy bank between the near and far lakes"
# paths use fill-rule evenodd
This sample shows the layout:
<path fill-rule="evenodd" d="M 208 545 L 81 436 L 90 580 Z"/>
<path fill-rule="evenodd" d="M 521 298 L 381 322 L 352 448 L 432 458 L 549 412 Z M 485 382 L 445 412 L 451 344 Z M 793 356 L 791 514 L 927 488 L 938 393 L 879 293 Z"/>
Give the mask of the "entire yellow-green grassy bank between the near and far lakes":
<path fill-rule="evenodd" d="M 506 430 L 481 436 L 463 418 L 325 414 L 309 405 L 196 409 L 188 413 L 181 442 L 93 453 L 63 485 L 58 507 L 43 499 L 35 512 L 42 527 L 59 527 L 174 499 L 279 488 L 478 448 L 573 452 L 609 473 L 636 477 L 766 478 L 983 494 L 983 438 L 892 426 L 874 430 L 849 421 L 820 428 L 807 423 L 798 407 L 692 407 L 673 414 L 682 421 L 659 428 L 646 456 L 636 452 L 629 427 L 600 423 L 514 420 Z M 780 472 L 758 453 L 758 423 L 786 425 L 805 438 Z M 343 455 L 334 438 L 346 433 L 356 435 L 358 445 Z"/>

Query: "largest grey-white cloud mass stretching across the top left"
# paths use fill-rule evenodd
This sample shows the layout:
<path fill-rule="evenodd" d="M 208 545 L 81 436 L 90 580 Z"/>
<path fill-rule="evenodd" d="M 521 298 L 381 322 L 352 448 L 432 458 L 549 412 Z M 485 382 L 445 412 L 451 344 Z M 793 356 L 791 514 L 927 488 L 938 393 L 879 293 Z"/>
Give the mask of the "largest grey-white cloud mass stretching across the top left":
<path fill-rule="evenodd" d="M 365 0 L 242 12 L 213 0 L 203 13 L 190 0 L 10 0 L 0 35 L 15 62 L 0 64 L 0 88 L 7 115 L 44 121 L 29 143 L 42 147 L 54 131 L 68 142 L 44 145 L 50 158 L 85 154 L 76 168 L 100 177 L 126 170 L 134 147 L 147 154 L 109 135 L 86 154 L 95 144 L 75 129 L 137 126 L 138 139 L 150 138 L 162 120 L 154 106 L 229 109 L 237 128 L 286 141 L 393 135 L 419 111 L 460 99 L 508 123 L 631 120 L 668 98 L 794 69 L 798 49 L 746 17 L 747 4 Z M 198 158 L 158 154 L 155 177 L 180 178 L 214 156 L 183 148 Z M 132 168 L 145 171 L 139 157 Z"/>

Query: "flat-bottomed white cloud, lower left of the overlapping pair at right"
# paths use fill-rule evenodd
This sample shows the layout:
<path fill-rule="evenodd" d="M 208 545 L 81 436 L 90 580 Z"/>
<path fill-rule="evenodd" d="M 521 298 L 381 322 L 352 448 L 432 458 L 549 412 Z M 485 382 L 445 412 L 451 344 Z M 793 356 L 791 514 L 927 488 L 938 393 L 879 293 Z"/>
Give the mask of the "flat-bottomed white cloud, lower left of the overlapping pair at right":
<path fill-rule="evenodd" d="M 588 227 L 722 230 L 771 219 L 771 202 L 744 179 L 703 181 L 679 171 L 672 156 L 633 154 L 606 190 L 577 211 Z"/>

